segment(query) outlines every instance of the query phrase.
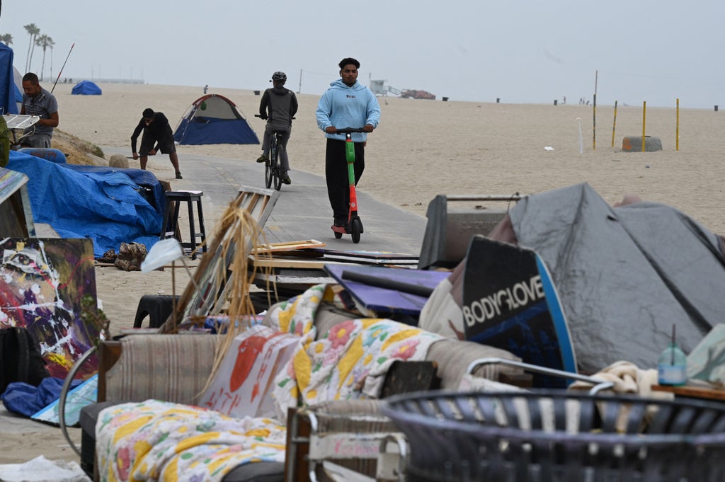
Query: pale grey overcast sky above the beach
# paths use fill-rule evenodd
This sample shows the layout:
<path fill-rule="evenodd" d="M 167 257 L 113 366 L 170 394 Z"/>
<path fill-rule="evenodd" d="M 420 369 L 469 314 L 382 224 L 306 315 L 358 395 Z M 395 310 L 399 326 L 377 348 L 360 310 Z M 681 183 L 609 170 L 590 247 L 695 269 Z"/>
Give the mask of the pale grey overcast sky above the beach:
<path fill-rule="evenodd" d="M 337 63 L 359 80 L 440 99 L 712 108 L 725 104 L 722 0 L 5 0 L 14 66 L 24 25 L 50 36 L 43 85 L 62 78 L 257 90 L 272 72 L 321 94 Z M 41 71 L 36 47 L 31 69 Z"/>

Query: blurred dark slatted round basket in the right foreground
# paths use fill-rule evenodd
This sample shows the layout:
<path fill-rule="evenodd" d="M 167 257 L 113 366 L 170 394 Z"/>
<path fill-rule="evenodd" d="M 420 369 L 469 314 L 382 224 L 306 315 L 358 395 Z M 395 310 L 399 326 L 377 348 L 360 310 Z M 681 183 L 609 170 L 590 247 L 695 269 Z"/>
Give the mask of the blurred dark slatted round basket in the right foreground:
<path fill-rule="evenodd" d="M 725 480 L 725 404 L 566 391 L 392 396 L 407 481 Z"/>

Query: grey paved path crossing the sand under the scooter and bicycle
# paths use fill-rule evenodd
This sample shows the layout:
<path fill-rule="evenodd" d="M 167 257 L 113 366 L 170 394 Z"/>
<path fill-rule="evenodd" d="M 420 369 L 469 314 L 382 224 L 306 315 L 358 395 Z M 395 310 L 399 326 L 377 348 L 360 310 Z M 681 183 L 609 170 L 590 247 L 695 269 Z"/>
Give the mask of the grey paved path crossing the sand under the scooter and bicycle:
<path fill-rule="evenodd" d="M 104 148 L 107 154 L 128 155 L 124 149 Z M 168 163 L 165 155 L 149 161 Z M 182 180 L 171 179 L 176 190 L 203 191 L 202 207 L 207 233 L 241 186 L 264 188 L 265 167 L 253 160 L 227 159 L 194 154 L 180 154 Z M 129 167 L 138 167 L 129 159 Z M 293 163 L 294 167 L 294 163 Z M 278 201 L 265 223 L 270 243 L 315 239 L 326 249 L 339 251 L 376 251 L 418 255 L 421 252 L 426 217 L 374 199 L 364 191 L 365 175 L 357 189 L 359 215 L 363 220 L 360 243 L 349 235 L 336 239 L 331 229 L 332 209 L 328 201 L 325 178 L 304 171 L 290 171 L 292 183 L 283 185 Z M 159 179 L 167 179 L 159 174 Z M 183 232 L 183 231 L 182 231 Z"/>

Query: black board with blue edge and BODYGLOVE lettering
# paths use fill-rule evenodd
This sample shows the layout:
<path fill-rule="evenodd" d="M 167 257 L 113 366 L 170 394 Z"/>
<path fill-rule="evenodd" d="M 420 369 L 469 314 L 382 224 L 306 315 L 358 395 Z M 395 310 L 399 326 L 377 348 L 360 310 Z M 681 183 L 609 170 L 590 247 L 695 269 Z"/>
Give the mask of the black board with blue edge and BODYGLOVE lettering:
<path fill-rule="evenodd" d="M 465 338 L 496 346 L 531 365 L 576 373 L 576 356 L 551 274 L 532 249 L 471 238 L 463 273 Z M 536 388 L 568 381 L 534 375 Z"/>

